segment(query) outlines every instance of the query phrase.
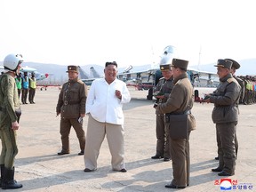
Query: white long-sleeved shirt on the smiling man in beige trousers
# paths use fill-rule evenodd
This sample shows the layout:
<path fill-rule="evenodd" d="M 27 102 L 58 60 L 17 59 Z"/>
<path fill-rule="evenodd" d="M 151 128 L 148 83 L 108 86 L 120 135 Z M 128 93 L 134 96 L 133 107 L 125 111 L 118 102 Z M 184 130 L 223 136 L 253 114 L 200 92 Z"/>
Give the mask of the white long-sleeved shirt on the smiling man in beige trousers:
<path fill-rule="evenodd" d="M 121 100 L 116 97 L 116 90 L 121 92 Z M 123 81 L 116 79 L 108 84 L 105 78 L 95 79 L 86 100 L 86 113 L 101 123 L 124 124 L 123 104 L 130 100 L 130 92 Z"/>

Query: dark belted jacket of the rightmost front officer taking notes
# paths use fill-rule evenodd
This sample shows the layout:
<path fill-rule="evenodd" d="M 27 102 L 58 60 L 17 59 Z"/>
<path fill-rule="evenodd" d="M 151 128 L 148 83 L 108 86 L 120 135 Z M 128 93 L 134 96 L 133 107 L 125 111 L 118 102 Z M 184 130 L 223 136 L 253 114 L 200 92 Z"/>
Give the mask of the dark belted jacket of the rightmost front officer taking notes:
<path fill-rule="evenodd" d="M 231 75 L 220 79 L 216 91 L 211 94 L 210 102 L 214 103 L 212 121 L 214 124 L 237 122 L 238 104 L 241 87 Z"/>

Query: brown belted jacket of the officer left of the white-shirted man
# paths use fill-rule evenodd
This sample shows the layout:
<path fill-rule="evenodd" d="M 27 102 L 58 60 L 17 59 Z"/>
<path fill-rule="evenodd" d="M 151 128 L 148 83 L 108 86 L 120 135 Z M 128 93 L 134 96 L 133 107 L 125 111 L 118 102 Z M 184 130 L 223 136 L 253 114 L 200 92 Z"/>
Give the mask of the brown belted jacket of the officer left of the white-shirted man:
<path fill-rule="evenodd" d="M 87 87 L 81 80 L 68 81 L 60 91 L 56 112 L 64 118 L 77 118 L 85 114 Z"/>

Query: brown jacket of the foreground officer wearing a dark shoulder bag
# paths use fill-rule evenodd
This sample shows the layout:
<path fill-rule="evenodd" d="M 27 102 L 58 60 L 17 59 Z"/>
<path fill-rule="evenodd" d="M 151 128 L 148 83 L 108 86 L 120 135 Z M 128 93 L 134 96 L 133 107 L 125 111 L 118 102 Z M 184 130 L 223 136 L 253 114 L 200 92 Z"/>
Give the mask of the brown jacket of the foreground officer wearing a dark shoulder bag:
<path fill-rule="evenodd" d="M 193 108 L 194 91 L 193 86 L 188 79 L 187 73 L 180 75 L 173 81 L 173 89 L 165 103 L 159 104 L 156 110 L 162 114 L 177 113 L 183 114 L 185 111 Z M 192 114 L 188 115 L 188 130 L 196 128 L 196 119 Z"/>

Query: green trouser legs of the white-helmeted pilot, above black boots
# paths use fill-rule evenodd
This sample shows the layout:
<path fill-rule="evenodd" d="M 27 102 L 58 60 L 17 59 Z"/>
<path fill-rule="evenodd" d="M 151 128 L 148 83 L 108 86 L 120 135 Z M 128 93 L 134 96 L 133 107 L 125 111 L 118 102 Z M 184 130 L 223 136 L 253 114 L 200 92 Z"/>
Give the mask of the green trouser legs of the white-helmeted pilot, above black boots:
<path fill-rule="evenodd" d="M 12 130 L 11 128 L 1 129 L 0 138 L 2 140 L 0 164 L 4 164 L 4 167 L 7 169 L 12 169 L 15 156 L 18 154 L 16 131 Z"/>

